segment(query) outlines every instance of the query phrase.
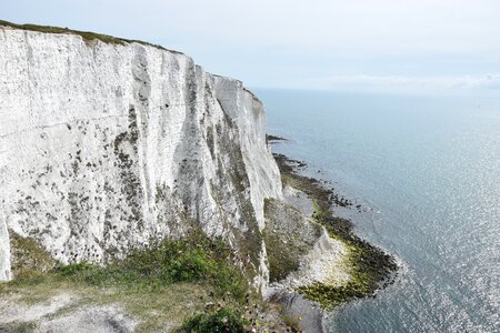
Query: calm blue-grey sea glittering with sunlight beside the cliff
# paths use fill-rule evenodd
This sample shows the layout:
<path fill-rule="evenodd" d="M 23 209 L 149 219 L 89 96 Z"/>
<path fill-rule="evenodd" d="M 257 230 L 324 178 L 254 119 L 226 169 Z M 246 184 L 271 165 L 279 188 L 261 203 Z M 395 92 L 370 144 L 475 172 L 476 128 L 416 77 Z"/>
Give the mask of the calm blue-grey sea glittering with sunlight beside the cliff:
<path fill-rule="evenodd" d="M 401 265 L 331 332 L 500 332 L 500 94 L 256 92 L 290 139 L 273 151 L 361 204 L 337 212 Z"/>

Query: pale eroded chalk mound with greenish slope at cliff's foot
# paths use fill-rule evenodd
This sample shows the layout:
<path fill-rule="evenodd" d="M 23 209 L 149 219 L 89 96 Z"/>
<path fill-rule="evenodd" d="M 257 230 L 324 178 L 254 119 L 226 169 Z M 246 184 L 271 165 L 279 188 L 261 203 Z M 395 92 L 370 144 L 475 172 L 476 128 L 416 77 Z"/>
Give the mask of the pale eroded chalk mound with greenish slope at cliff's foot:
<path fill-rule="evenodd" d="M 289 189 L 284 193 L 286 202 L 266 201 L 263 234 L 273 283 L 268 294 L 314 282 L 347 283 L 350 276 L 346 245 L 331 239 L 322 225 L 303 214 L 312 205 L 303 192 Z M 290 193 L 294 200 L 290 200 Z"/>

